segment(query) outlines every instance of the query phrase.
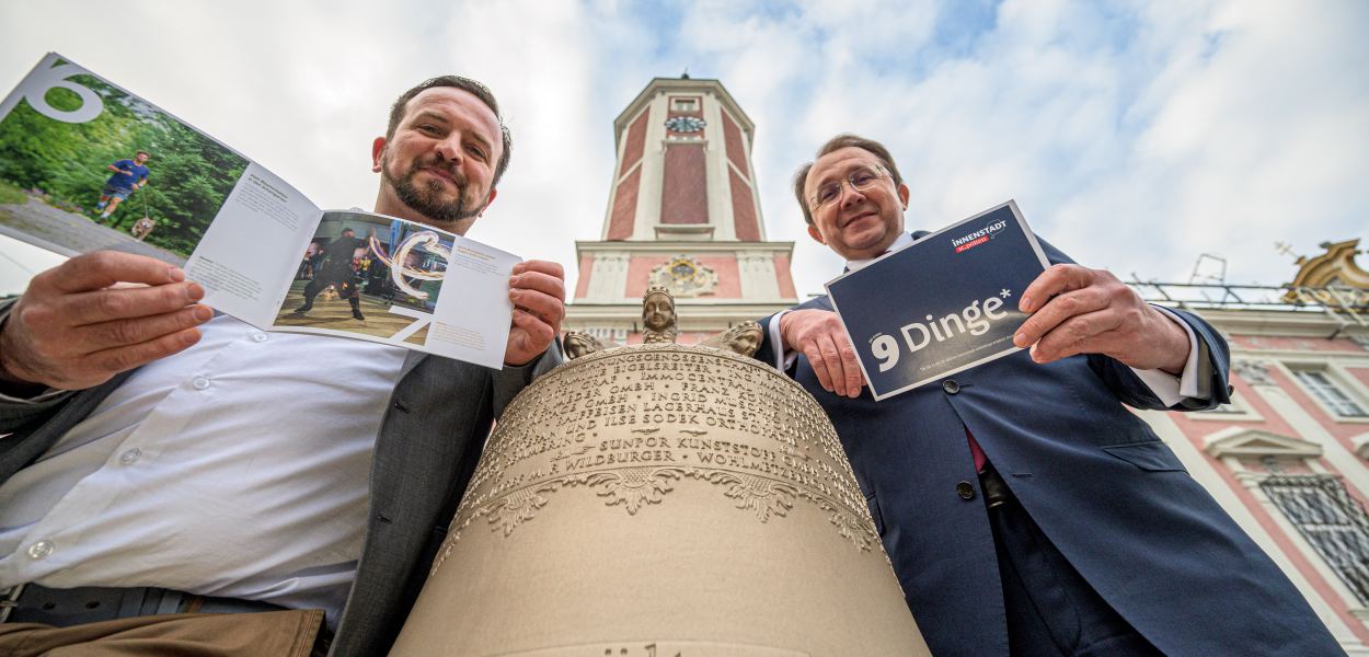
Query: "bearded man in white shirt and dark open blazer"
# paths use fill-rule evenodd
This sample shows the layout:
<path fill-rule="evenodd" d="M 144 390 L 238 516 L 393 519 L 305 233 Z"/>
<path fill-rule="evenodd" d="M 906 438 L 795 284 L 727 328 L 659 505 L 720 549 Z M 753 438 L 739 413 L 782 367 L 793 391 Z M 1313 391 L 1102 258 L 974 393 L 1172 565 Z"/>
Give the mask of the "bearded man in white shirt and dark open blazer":
<path fill-rule="evenodd" d="M 423 82 L 372 144 L 375 211 L 464 234 L 509 148 L 489 89 Z M 331 654 L 385 653 L 493 419 L 557 361 L 564 274 L 515 267 L 501 371 L 266 334 L 203 296 L 97 252 L 0 308 L 0 653 L 285 654 L 323 617 Z"/>

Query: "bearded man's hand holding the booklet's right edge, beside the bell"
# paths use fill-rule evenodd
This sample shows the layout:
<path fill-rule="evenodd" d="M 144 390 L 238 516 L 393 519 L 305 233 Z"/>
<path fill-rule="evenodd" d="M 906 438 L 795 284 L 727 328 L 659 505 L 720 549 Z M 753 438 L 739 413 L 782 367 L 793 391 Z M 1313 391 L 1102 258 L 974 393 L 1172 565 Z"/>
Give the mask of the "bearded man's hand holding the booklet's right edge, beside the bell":
<path fill-rule="evenodd" d="M 541 356 L 561 334 L 565 271 L 546 260 L 515 264 L 509 276 L 509 301 L 513 301 L 513 327 L 504 364 L 524 365 Z"/>

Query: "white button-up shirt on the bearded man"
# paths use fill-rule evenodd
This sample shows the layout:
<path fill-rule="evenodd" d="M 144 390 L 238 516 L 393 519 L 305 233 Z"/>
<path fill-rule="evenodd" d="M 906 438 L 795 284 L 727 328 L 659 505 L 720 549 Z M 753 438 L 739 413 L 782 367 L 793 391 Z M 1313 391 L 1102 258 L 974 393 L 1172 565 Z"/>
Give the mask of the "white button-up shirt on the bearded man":
<path fill-rule="evenodd" d="M 201 330 L 0 486 L 0 587 L 159 586 L 337 624 L 407 350 Z"/>

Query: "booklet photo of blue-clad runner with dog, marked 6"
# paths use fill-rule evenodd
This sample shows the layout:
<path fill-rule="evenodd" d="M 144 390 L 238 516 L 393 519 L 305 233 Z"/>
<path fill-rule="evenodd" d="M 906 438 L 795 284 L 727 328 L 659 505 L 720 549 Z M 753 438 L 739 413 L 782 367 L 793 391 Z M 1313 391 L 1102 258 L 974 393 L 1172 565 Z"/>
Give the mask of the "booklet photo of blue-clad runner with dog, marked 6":
<path fill-rule="evenodd" d="M 246 167 L 178 118 L 49 55 L 0 105 L 0 233 L 67 256 L 115 249 L 181 264 Z"/>

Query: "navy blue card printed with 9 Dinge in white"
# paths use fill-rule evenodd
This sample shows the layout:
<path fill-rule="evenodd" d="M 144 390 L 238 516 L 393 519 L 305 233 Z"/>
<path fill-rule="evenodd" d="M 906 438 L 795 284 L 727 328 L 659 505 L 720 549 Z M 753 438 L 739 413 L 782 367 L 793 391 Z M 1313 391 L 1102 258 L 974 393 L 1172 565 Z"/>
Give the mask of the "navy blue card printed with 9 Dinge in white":
<path fill-rule="evenodd" d="M 875 400 L 1016 352 L 1017 298 L 1050 263 L 1008 201 L 827 283 Z"/>

